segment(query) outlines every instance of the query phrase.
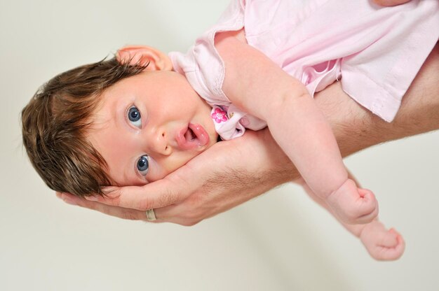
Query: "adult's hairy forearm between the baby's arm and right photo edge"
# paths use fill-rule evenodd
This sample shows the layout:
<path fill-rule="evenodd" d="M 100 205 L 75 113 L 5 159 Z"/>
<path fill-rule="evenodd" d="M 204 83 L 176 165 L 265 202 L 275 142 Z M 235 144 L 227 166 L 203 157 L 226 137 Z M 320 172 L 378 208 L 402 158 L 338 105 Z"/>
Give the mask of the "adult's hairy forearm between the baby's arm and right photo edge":
<path fill-rule="evenodd" d="M 341 92 L 339 83 L 316 96 L 318 106 L 330 120 L 342 155 L 439 129 L 439 45 L 424 62 L 393 122 L 385 122 Z M 344 111 L 344 116 L 335 111 Z"/>

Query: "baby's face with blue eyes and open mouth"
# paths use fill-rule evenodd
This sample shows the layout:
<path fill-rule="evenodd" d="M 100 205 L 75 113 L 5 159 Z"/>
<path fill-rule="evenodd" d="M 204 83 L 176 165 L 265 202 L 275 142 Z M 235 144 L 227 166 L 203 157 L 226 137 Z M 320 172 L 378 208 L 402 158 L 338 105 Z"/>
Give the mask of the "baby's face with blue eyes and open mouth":
<path fill-rule="evenodd" d="M 144 185 L 217 141 L 210 106 L 174 71 L 148 71 L 102 94 L 88 139 L 119 185 Z"/>

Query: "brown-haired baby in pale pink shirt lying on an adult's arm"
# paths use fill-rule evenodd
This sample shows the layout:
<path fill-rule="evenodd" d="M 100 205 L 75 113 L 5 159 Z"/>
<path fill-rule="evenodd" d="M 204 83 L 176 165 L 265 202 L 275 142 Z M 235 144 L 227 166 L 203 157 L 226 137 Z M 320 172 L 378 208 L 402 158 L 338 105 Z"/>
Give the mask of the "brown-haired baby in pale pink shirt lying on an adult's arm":
<path fill-rule="evenodd" d="M 391 121 L 438 39 L 438 3 L 266 2 L 233 1 L 186 55 L 130 46 L 50 80 L 22 112 L 25 147 L 46 184 L 81 196 L 142 185 L 217 133 L 232 139 L 268 126 L 320 204 L 342 222 L 376 225 L 374 195 L 349 178 L 311 96 L 343 78 L 351 97 Z M 376 245 L 383 234 L 368 239 Z"/>

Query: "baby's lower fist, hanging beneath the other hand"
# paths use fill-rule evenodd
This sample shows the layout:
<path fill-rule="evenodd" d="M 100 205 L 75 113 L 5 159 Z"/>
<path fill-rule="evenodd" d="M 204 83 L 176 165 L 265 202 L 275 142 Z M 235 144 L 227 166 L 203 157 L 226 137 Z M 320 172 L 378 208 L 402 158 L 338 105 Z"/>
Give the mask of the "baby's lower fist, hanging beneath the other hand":
<path fill-rule="evenodd" d="M 384 225 L 374 220 L 363 228 L 360 239 L 367 252 L 375 260 L 396 260 L 404 253 L 405 243 L 395 229 L 387 230 Z"/>

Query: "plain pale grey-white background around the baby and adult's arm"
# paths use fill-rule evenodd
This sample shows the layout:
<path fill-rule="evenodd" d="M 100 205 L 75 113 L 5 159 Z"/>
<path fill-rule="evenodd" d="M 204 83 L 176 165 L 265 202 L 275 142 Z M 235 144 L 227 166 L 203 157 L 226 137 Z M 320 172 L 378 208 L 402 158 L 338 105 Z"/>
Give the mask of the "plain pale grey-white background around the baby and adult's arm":
<path fill-rule="evenodd" d="M 121 45 L 185 51 L 227 3 L 0 0 L 0 290 L 438 290 L 439 132 L 346 161 L 405 235 L 398 262 L 370 259 L 291 185 L 189 228 L 69 206 L 43 185 L 19 124 L 39 85 Z"/>

